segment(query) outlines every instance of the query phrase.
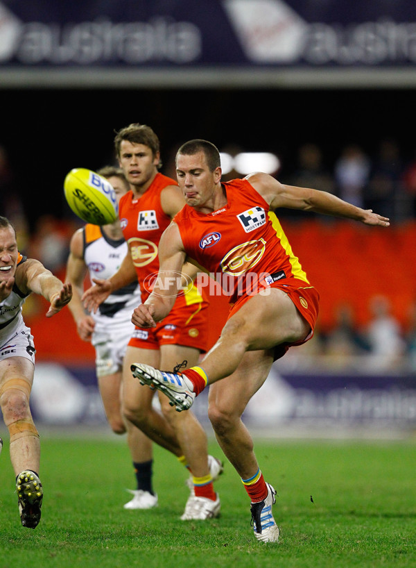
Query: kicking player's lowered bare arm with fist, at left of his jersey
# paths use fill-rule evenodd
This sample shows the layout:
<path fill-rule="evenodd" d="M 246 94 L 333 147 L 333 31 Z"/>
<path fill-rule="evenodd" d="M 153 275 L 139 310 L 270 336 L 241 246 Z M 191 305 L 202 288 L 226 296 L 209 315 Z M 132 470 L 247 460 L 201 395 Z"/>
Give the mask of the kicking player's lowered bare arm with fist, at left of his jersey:
<path fill-rule="evenodd" d="M 155 327 L 173 308 L 182 287 L 182 266 L 186 258 L 177 224 L 171 223 L 159 242 L 159 273 L 148 299 L 135 308 L 132 322 L 137 327 Z"/>

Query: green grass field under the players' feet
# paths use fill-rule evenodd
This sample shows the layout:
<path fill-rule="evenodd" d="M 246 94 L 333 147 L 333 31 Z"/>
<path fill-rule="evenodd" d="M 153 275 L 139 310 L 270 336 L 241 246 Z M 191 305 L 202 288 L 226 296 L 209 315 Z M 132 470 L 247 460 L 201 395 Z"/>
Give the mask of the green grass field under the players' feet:
<path fill-rule="evenodd" d="M 209 449 L 223 457 L 216 442 Z M 228 462 L 216 483 L 220 518 L 180 521 L 187 474 L 158 447 L 159 507 L 123 510 L 134 483 L 125 440 L 115 437 L 43 437 L 42 521 L 23 528 L 5 440 L 0 568 L 416 567 L 414 441 L 257 440 L 256 450 L 279 495 L 278 543 L 254 539 L 248 497 Z"/>

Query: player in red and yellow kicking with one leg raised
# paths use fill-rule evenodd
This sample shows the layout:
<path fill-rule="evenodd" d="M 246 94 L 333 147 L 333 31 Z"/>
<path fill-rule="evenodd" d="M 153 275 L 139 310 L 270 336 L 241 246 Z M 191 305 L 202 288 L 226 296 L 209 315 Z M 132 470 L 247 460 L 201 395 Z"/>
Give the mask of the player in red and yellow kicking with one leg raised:
<path fill-rule="evenodd" d="M 210 385 L 209 419 L 250 496 L 254 535 L 261 542 L 276 542 L 276 492 L 263 478 L 241 416 L 266 381 L 273 360 L 312 337 L 319 294 L 293 255 L 274 211 L 310 210 L 374 226 L 388 226 L 388 219 L 327 192 L 283 185 L 259 172 L 221 183 L 218 149 L 206 140 L 180 147 L 176 171 L 187 205 L 160 240 L 158 282 L 165 285 L 155 287 L 146 303 L 135 309 L 132 321 L 139 328 L 153 329 L 166 318 L 177 283 L 164 276 L 180 269 L 185 260 L 218 274 L 228 285 L 234 283 L 231 308 L 220 339 L 200 366 L 166 373 L 135 364 L 132 371 L 142 384 L 164 392 L 177 410 L 191 408 Z"/>

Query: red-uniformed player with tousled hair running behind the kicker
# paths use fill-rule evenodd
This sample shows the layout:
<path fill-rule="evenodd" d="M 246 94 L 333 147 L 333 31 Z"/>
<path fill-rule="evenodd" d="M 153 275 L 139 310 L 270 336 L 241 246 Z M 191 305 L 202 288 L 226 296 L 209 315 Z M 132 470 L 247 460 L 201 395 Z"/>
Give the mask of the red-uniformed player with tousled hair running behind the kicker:
<path fill-rule="evenodd" d="M 90 311 L 96 310 L 108 294 L 137 278 L 141 299 L 146 300 L 159 269 L 159 239 L 185 203 L 177 182 L 158 171 L 162 166 L 159 139 L 152 128 L 130 124 L 117 133 L 114 144 L 130 185 L 130 192 L 119 203 L 121 228 L 130 252 L 114 276 L 106 280 L 93 278 L 95 285 L 83 296 Z M 155 330 L 136 328 L 125 354 L 126 366 L 139 360 L 173 370 L 184 360 L 189 365 L 198 363 L 200 353 L 206 351 L 208 304 L 191 278 L 189 281 L 187 293 L 178 296 L 169 317 Z M 159 398 L 162 414 L 156 412 L 152 405 L 154 394 L 154 390 L 140 387 L 130 374 L 130 380 L 123 385 L 125 416 L 190 469 L 191 494 L 181 519 L 217 517 L 220 499 L 212 482 L 221 473 L 222 464 L 207 456 L 207 435 L 195 415 L 179 415 L 165 396 Z"/>

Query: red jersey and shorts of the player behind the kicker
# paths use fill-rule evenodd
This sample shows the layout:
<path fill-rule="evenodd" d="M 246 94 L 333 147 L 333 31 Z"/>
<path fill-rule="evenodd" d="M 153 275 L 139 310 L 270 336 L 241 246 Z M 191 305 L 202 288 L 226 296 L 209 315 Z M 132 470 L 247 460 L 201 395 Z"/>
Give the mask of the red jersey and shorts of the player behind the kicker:
<path fill-rule="evenodd" d="M 157 256 L 160 237 L 171 223 L 171 217 L 162 209 L 160 195 L 176 181 L 157 173 L 148 190 L 138 198 L 132 191 L 123 195 L 119 203 L 119 217 L 125 240 L 128 242 L 141 289 L 141 301 L 148 298 L 159 271 Z M 207 298 L 189 285 L 178 294 L 171 312 L 156 328 L 136 328 L 131 346 L 141 349 L 159 349 L 162 344 L 183 345 L 206 351 L 208 340 Z"/>

